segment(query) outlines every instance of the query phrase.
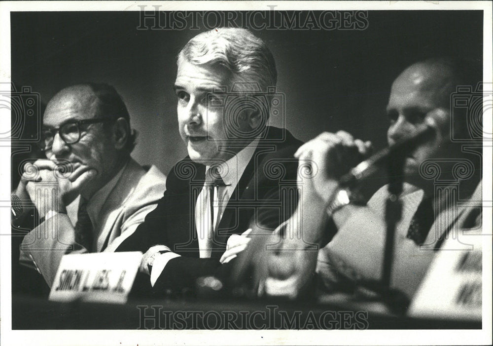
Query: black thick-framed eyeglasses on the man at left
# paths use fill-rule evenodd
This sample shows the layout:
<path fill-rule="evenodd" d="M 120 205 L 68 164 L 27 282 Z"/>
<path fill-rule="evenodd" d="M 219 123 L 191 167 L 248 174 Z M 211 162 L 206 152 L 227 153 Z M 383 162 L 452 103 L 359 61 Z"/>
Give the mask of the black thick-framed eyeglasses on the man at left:
<path fill-rule="evenodd" d="M 38 146 L 42 151 L 51 149 L 53 146 L 53 140 L 55 134 L 59 134 L 60 138 L 66 144 L 75 144 L 80 140 L 80 125 L 95 124 L 98 122 L 108 122 L 116 120 L 115 117 L 101 117 L 82 120 L 71 120 L 63 123 L 60 127 L 56 128 L 44 128 L 41 131 L 41 140 L 38 142 Z"/>

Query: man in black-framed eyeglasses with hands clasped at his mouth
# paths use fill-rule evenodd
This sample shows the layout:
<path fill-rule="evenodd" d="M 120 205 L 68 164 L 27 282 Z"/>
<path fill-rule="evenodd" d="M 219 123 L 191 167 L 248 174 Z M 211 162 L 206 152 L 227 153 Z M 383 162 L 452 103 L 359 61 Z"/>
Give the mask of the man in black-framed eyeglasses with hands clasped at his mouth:
<path fill-rule="evenodd" d="M 135 137 L 110 85 L 70 86 L 48 103 L 39 143 L 47 159 L 24 166 L 15 193 L 41 218 L 23 239 L 20 262 L 49 286 L 64 254 L 113 251 L 162 196 L 166 177 L 130 156 Z"/>

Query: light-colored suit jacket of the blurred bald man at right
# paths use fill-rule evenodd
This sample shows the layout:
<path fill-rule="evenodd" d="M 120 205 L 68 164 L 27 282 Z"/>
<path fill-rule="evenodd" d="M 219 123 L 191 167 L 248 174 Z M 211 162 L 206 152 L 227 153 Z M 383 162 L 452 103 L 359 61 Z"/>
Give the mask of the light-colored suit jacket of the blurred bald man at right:
<path fill-rule="evenodd" d="M 482 184 L 479 183 L 468 200 L 444 208 L 436 215 L 423 245 L 406 237 L 411 219 L 423 199 L 423 191 L 410 192 L 400 198 L 403 212 L 396 226 L 391 288 L 412 298 L 444 236 L 456 237 L 458 245 L 466 248 L 465 244 L 460 244 L 460 235 L 463 231 L 478 231 L 477 227 L 481 226 L 481 195 Z M 352 214 L 331 242 L 318 251 L 316 271 L 328 290 L 344 287 L 341 283 L 378 282 L 381 279 L 386 197 L 387 186 L 372 196 L 367 208 Z M 471 224 L 477 227 L 471 228 Z"/>

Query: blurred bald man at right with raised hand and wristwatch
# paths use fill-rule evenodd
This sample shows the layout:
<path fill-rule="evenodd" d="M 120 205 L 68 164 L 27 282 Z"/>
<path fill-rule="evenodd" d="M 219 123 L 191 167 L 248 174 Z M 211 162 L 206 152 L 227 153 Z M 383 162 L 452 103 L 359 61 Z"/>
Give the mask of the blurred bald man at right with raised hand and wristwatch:
<path fill-rule="evenodd" d="M 474 90 L 481 77 L 481 69 L 473 64 L 430 59 L 408 67 L 392 84 L 387 105 L 388 144 L 413 135 L 424 123 L 436 131 L 433 139 L 403 157 L 404 185 L 398 196 L 402 216 L 396 225 L 390 275 L 390 288 L 401 298 L 413 297 L 436 254 L 434 250 L 444 239 L 455 238 L 463 247 L 463 231 L 481 231 L 481 156 L 471 153 L 474 147 L 481 148 L 482 142 L 474 142 L 468 135 L 466 114 L 451 114 L 451 95 L 457 86 L 470 85 Z M 464 142 L 452 138 L 469 138 L 469 150 L 463 147 Z M 341 172 L 367 156 L 369 146 L 369 142 L 344 131 L 324 132 L 297 151 L 300 165 L 309 163 L 316 173 L 300 177 L 300 207 L 284 228 L 280 248 L 293 251 L 272 252 L 264 261 L 267 294 L 294 298 L 314 277 L 328 291 L 353 291 L 361 285 L 376 291 L 386 289 L 381 279 L 387 186 L 364 206 L 354 204 L 345 190 L 338 192 Z M 437 167 L 447 162 L 470 162 L 473 166 L 466 169 L 468 172 L 458 172 L 457 166 L 438 168 L 436 177 L 423 173 L 427 164 Z M 442 193 L 453 191 L 455 186 L 459 192 L 455 197 Z M 336 196 L 333 202 L 329 201 L 331 195 Z M 326 244 L 323 239 L 328 232 L 335 235 Z M 280 230 L 277 237 L 279 234 Z M 278 241 L 276 238 L 271 243 Z M 314 244 L 319 251 L 313 251 Z"/>

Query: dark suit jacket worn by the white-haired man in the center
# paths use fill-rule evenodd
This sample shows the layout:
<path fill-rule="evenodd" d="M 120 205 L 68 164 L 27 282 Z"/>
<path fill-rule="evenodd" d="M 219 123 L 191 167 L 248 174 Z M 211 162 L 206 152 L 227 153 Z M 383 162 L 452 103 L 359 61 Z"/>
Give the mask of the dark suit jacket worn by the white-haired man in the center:
<path fill-rule="evenodd" d="M 205 166 L 188 156 L 176 163 L 166 180 L 166 192 L 156 209 L 116 251 L 141 251 L 166 245 L 181 255 L 168 262 L 153 291 L 194 288 L 201 276 L 224 276 L 231 268 L 219 259 L 230 235 L 248 228 L 268 234 L 290 217 L 297 203 L 298 160 L 293 157 L 302 142 L 289 131 L 267 127 L 246 166 L 214 233 L 211 258 L 199 258 L 195 203 L 204 185 Z M 260 232 L 262 233 L 262 232 Z M 219 274 L 218 274 L 219 273 Z M 145 277 L 150 289 L 149 276 Z"/>

